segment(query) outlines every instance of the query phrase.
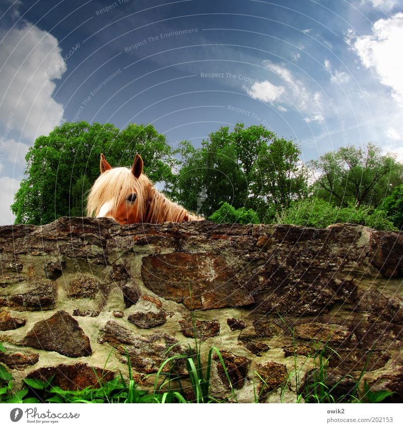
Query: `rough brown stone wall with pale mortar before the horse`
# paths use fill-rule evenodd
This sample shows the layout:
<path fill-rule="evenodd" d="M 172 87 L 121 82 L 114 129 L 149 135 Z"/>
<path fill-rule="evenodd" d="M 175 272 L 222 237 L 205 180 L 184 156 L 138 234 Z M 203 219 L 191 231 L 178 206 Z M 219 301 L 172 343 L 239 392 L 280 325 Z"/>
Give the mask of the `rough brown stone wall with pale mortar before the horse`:
<path fill-rule="evenodd" d="M 0 361 L 17 384 L 54 375 L 76 389 L 96 383 L 93 368 L 109 371 L 106 379 L 127 374 L 128 354 L 149 388 L 167 357 L 191 353 L 195 329 L 203 356 L 222 351 L 240 402 L 252 402 L 254 390 L 261 401 L 295 401 L 321 349 L 328 385 L 342 380 L 333 395 L 364 371 L 362 382 L 395 391 L 390 400 L 399 402 L 402 255 L 401 233 L 351 224 L 120 226 L 63 217 L 2 226 L 8 352 Z M 172 370 L 186 384 L 184 364 Z M 217 357 L 212 394 L 230 395 Z"/>

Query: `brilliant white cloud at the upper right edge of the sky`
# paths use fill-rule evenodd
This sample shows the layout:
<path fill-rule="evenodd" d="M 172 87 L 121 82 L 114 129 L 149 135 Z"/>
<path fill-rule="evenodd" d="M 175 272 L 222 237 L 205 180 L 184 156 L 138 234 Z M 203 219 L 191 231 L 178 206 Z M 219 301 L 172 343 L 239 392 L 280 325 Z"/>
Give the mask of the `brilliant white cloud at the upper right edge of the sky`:
<path fill-rule="evenodd" d="M 352 48 L 376 79 L 392 89 L 393 97 L 403 104 L 403 13 L 380 19 L 372 27 L 373 33 L 355 37 Z"/>

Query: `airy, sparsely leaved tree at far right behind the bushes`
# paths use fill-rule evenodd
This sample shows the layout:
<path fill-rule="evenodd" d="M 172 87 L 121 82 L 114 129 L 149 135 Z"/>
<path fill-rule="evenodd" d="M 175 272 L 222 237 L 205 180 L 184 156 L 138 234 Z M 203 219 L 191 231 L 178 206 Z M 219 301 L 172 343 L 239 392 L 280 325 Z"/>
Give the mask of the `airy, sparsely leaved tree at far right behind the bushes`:
<path fill-rule="evenodd" d="M 341 147 L 310 162 L 318 171 L 314 190 L 320 198 L 347 207 L 354 203 L 378 206 L 392 187 L 402 182 L 402 165 L 382 155 L 372 143 L 365 148 Z"/>

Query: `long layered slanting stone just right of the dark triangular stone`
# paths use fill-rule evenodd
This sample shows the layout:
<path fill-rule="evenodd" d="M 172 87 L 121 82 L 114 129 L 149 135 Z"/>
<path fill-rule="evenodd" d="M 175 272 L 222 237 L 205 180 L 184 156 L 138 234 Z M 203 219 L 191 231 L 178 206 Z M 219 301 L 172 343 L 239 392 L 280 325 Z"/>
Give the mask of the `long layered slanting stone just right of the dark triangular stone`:
<path fill-rule="evenodd" d="M 173 355 L 186 354 L 187 349 L 181 346 L 177 340 L 165 333 L 156 333 L 151 336 L 135 335 L 115 321 L 108 321 L 100 330 L 98 342 L 108 343 L 116 348 L 119 360 L 130 364 L 140 373 L 157 373 L 161 364 Z M 185 373 L 183 361 L 174 360 L 171 366 L 166 365 L 166 370 L 173 373 Z"/>

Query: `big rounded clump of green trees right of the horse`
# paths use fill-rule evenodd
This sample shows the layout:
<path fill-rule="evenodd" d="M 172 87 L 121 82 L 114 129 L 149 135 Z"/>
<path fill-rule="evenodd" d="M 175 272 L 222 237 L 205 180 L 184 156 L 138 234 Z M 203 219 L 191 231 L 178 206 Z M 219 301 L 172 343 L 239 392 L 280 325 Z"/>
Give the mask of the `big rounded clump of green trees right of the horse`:
<path fill-rule="evenodd" d="M 193 211 L 200 208 L 209 216 L 226 202 L 235 209 L 252 208 L 262 217 L 268 207 L 280 210 L 306 194 L 298 146 L 261 125 L 237 124 L 233 132 L 222 127 L 202 145 L 186 152 L 177 180 L 179 202 Z M 201 194 L 206 198 L 198 207 Z"/>

